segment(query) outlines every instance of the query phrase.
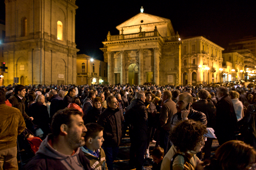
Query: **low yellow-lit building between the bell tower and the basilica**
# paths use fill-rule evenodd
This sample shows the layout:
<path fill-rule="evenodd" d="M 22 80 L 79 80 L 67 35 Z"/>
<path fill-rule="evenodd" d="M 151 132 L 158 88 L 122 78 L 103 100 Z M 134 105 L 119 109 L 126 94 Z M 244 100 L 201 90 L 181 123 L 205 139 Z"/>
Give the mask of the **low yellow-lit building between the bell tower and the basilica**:
<path fill-rule="evenodd" d="M 107 82 L 107 69 L 106 62 L 93 59 L 85 54 L 78 54 L 76 57 L 76 84 L 103 84 L 103 82 Z"/>

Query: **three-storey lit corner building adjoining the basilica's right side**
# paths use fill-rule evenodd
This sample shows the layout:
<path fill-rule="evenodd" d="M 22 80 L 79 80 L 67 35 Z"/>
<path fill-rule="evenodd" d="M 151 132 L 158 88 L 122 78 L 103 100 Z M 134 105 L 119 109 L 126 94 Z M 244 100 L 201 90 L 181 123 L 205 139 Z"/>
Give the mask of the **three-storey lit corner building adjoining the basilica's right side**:
<path fill-rule="evenodd" d="M 203 36 L 182 39 L 181 84 L 211 84 L 222 82 L 222 51 Z"/>

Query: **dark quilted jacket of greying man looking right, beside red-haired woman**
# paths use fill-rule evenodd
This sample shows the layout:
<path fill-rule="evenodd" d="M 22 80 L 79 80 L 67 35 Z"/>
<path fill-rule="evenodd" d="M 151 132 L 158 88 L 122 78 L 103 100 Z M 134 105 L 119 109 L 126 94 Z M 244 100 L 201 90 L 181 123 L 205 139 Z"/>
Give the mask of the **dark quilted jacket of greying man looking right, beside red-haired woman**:
<path fill-rule="evenodd" d="M 104 127 L 103 138 L 105 141 L 103 142 L 103 145 L 105 147 L 119 146 L 122 137 L 121 110 L 119 108 L 113 110 L 108 107 L 100 114 L 97 123 Z"/>

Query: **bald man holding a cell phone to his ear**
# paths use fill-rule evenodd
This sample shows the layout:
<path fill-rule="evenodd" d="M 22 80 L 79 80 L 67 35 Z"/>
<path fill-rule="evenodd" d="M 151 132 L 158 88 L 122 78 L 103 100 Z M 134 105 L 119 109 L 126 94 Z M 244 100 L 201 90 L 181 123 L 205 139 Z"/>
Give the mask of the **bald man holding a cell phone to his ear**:
<path fill-rule="evenodd" d="M 202 112 L 194 110 L 191 105 L 193 103 L 193 96 L 188 92 L 183 92 L 177 97 L 176 109 L 177 113 L 175 113 L 171 118 L 171 129 L 180 121 L 192 119 L 194 121 L 199 121 L 203 125 L 207 125 L 206 115 Z M 170 136 L 168 140 L 168 146 L 166 151 L 168 151 L 172 143 L 170 141 Z"/>

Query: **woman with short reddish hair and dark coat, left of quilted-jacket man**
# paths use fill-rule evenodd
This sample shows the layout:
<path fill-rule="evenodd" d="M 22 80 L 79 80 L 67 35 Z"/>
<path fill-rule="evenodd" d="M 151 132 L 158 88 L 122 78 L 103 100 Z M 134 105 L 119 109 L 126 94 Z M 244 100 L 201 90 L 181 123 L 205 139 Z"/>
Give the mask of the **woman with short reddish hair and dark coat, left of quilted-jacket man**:
<path fill-rule="evenodd" d="M 88 111 L 86 119 L 84 119 L 84 124 L 96 123 L 100 114 L 105 110 L 102 107 L 102 100 L 100 97 L 95 97 L 92 101 L 92 109 Z"/>

